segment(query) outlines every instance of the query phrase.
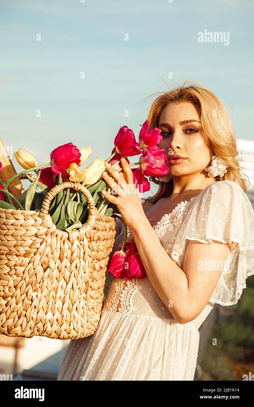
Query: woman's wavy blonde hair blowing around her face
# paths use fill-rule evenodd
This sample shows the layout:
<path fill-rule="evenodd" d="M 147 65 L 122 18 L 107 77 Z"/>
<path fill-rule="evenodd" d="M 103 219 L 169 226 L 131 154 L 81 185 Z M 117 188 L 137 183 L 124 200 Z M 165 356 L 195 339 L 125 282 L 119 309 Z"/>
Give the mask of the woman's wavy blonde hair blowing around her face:
<path fill-rule="evenodd" d="M 147 96 L 144 100 L 154 96 L 158 96 L 150 107 L 147 117 L 150 125 L 149 130 L 154 127 L 159 127 L 159 117 L 163 108 L 171 102 L 190 102 L 196 107 L 201 121 L 201 132 L 204 142 L 208 145 L 210 155 L 218 155 L 223 158 L 228 164 L 227 172 L 221 177 L 215 177 L 217 181 L 231 180 L 238 183 L 246 193 L 248 179 L 243 178 L 240 173 L 239 162 L 236 159 L 238 155 L 236 146 L 236 137 L 232 125 L 232 121 L 227 112 L 227 109 L 219 98 L 211 90 L 205 89 L 199 85 L 199 81 L 194 81 L 194 84 L 188 85 L 190 80 L 187 79 L 182 85 L 173 88 L 172 90 L 156 92 Z M 197 83 L 198 82 L 198 83 Z M 245 175 L 245 174 L 243 174 Z M 172 193 L 173 181 L 161 182 L 157 177 L 149 177 L 149 181 L 159 184 L 157 193 L 152 197 L 148 197 L 152 203 L 157 202 L 160 198 L 166 198 Z"/>

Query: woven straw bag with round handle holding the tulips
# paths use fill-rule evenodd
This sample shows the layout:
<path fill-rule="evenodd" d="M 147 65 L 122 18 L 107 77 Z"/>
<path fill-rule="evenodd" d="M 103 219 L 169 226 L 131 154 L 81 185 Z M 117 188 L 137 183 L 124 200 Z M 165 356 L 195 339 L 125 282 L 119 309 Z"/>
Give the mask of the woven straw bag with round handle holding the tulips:
<path fill-rule="evenodd" d="M 89 206 L 86 223 L 73 232 L 57 229 L 48 213 L 51 200 L 64 188 L 81 191 Z M 40 212 L 0 208 L 0 334 L 93 335 L 115 233 L 115 218 L 100 214 L 79 182 L 52 188 Z"/>

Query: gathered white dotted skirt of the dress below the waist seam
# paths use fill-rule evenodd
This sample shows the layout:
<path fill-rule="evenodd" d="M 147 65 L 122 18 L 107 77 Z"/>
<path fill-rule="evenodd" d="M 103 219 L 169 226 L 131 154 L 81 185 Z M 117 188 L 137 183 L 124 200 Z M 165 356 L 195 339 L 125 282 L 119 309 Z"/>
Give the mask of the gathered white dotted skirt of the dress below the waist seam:
<path fill-rule="evenodd" d="M 57 380 L 193 380 L 198 348 L 190 324 L 102 311 L 95 334 L 68 345 Z"/>

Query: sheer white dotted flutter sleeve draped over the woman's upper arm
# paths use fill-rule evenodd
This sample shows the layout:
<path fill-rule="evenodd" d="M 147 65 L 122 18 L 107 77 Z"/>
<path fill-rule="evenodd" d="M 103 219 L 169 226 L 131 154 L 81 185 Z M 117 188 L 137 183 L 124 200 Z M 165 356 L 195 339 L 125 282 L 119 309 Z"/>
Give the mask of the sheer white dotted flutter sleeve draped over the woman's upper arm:
<path fill-rule="evenodd" d="M 241 297 L 246 278 L 254 274 L 254 210 L 234 181 L 204 188 L 188 211 L 172 247 L 172 259 L 182 268 L 190 240 L 238 243 L 227 258 L 211 304 L 232 305 Z"/>

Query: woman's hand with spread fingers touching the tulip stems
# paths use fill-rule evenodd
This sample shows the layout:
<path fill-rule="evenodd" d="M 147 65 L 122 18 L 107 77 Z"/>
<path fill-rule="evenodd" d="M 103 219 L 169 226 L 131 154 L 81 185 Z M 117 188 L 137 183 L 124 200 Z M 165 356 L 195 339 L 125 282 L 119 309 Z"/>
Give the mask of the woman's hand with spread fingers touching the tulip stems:
<path fill-rule="evenodd" d="M 111 166 L 107 166 L 109 175 L 114 179 L 111 179 L 107 173 L 102 174 L 105 182 L 111 188 L 111 195 L 106 191 L 102 191 L 102 194 L 108 199 L 108 201 L 117 206 L 124 223 L 131 228 L 133 224 L 138 222 L 140 218 L 146 217 L 146 215 L 142 207 L 141 195 L 134 185 L 133 172 L 131 171 L 128 162 L 121 159 L 121 166 L 125 178 L 122 173 L 117 172 Z"/>

